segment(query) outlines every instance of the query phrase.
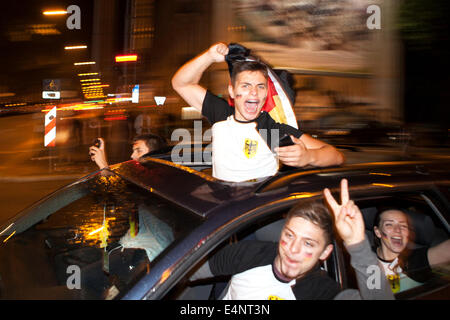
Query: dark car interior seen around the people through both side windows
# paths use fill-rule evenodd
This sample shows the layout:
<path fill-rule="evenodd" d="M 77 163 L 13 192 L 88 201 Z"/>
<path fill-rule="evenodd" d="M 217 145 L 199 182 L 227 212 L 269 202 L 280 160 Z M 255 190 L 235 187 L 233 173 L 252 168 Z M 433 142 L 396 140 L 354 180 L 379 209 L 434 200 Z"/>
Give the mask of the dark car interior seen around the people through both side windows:
<path fill-rule="evenodd" d="M 364 217 L 366 226 L 366 236 L 374 247 L 374 233 L 373 226 L 375 217 L 379 210 L 385 207 L 402 208 L 410 218 L 412 226 L 410 229 L 414 232 L 413 239 L 408 244 L 411 248 L 418 247 L 432 247 L 447 239 L 449 239 L 449 227 L 443 222 L 432 208 L 426 203 L 420 194 L 396 194 L 375 198 L 364 198 L 355 201 L 360 207 Z M 281 229 L 284 225 L 284 217 L 288 210 L 282 212 L 274 212 L 269 217 L 263 220 L 253 221 L 249 227 L 240 230 L 231 235 L 226 241 L 221 243 L 208 256 L 211 256 L 228 243 L 237 241 L 245 241 L 249 239 L 273 241 L 277 242 Z M 328 272 L 328 275 L 341 284 L 343 289 L 354 288 L 357 289 L 356 276 L 352 267 L 350 266 L 350 257 L 343 248 L 339 239 L 334 241 L 333 253 L 330 257 L 322 263 L 322 269 Z M 203 265 L 207 257 L 194 267 L 187 276 L 184 277 L 172 290 L 164 297 L 164 299 L 179 299 L 179 300 L 215 300 L 220 299 L 224 293 L 224 289 L 231 277 L 214 277 L 210 279 L 202 279 L 190 281 L 189 278 L 195 273 L 198 268 Z M 340 261 L 341 260 L 341 261 Z M 340 269 L 343 267 L 343 269 Z M 447 266 L 448 267 L 448 266 Z M 450 286 L 445 277 L 433 277 L 428 279 L 426 286 L 422 286 L 423 290 L 430 290 L 439 286 Z M 406 292 L 399 292 L 395 296 L 397 299 L 410 298 L 414 292 L 419 292 L 420 288 L 410 289 Z"/>

